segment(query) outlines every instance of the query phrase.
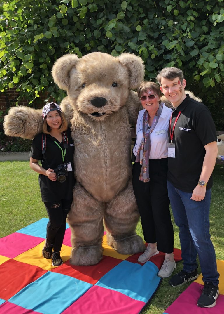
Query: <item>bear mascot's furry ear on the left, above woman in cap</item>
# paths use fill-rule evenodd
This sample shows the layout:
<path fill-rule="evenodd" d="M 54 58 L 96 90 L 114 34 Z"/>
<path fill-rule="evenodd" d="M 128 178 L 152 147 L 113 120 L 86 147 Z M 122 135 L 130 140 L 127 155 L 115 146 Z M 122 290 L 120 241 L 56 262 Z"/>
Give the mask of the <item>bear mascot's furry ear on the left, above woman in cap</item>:
<path fill-rule="evenodd" d="M 59 88 L 68 90 L 69 72 L 78 62 L 78 57 L 73 54 L 67 54 L 56 60 L 52 68 L 52 76 Z"/>

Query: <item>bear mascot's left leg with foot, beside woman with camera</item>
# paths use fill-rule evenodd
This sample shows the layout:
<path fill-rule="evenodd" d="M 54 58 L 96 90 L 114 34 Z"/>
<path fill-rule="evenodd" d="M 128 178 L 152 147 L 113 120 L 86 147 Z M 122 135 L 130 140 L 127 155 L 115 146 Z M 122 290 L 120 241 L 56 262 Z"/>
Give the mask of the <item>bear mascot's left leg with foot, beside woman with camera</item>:
<path fill-rule="evenodd" d="M 94 265 L 102 259 L 103 204 L 76 183 L 67 218 L 71 229 L 73 265 Z"/>

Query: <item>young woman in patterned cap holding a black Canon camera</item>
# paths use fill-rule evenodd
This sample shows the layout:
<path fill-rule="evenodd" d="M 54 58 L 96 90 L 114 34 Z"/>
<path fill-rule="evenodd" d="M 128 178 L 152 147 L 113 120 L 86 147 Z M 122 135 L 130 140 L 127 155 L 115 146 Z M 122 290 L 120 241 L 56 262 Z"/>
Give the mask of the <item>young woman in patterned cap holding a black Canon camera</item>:
<path fill-rule="evenodd" d="M 46 104 L 42 116 L 43 133 L 38 134 L 32 142 L 30 168 L 40 173 L 41 197 L 49 217 L 42 255 L 51 258 L 53 266 L 60 266 L 63 264 L 60 251 L 75 183 L 74 143 L 60 106 Z"/>

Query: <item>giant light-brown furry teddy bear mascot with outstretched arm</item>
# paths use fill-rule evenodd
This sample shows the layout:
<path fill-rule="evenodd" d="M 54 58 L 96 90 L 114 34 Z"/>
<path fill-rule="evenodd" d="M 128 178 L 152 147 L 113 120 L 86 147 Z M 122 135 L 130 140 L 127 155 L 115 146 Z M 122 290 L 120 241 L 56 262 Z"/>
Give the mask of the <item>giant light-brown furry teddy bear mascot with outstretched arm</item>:
<path fill-rule="evenodd" d="M 131 124 L 140 102 L 136 89 L 144 77 L 142 59 L 93 52 L 67 54 L 52 69 L 67 91 L 61 108 L 71 121 L 77 179 L 68 215 L 71 263 L 93 265 L 102 258 L 102 236 L 122 254 L 145 250 L 135 229 L 139 219 L 131 182 Z M 42 132 L 41 110 L 13 107 L 4 120 L 5 134 L 32 139 Z"/>

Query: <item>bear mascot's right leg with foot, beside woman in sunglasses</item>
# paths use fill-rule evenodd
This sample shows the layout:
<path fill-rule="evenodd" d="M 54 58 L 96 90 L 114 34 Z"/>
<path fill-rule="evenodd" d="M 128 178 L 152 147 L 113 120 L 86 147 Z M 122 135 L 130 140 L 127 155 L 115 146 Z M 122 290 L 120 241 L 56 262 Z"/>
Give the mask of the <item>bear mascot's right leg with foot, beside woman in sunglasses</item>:
<path fill-rule="evenodd" d="M 117 252 L 135 254 L 145 250 L 142 238 L 135 231 L 138 219 L 139 212 L 130 180 L 104 212 L 107 241 Z"/>

